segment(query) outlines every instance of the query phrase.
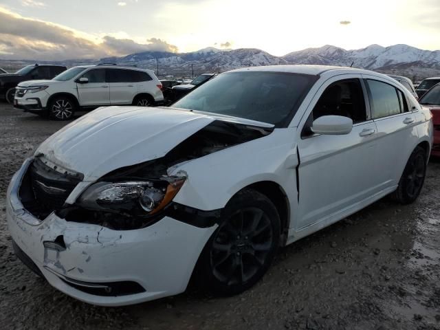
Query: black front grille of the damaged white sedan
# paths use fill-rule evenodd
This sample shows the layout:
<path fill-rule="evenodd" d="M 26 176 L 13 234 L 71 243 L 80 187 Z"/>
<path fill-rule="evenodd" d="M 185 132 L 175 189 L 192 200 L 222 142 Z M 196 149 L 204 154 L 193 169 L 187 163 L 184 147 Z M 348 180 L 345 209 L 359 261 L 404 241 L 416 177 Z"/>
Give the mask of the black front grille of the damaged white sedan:
<path fill-rule="evenodd" d="M 80 179 L 67 173 L 59 173 L 37 158 L 23 177 L 19 197 L 28 212 L 34 217 L 44 219 L 63 207 L 79 182 Z"/>

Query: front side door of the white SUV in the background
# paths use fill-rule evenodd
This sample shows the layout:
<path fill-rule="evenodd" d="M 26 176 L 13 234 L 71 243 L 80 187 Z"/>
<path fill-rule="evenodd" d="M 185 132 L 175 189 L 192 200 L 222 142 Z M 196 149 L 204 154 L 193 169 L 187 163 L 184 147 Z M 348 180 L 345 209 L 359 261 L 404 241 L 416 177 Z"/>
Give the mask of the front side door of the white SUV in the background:
<path fill-rule="evenodd" d="M 110 104 L 109 84 L 105 81 L 105 71 L 106 69 L 90 69 L 85 72 L 80 78 L 89 79 L 88 83 L 78 83 L 79 78 L 76 80 L 79 102 L 82 107 Z"/>

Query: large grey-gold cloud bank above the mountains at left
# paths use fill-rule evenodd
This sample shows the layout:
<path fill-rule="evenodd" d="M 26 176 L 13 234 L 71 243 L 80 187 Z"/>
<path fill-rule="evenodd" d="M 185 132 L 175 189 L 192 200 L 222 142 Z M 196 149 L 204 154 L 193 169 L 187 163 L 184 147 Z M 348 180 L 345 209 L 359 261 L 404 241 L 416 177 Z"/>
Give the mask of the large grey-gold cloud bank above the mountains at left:
<path fill-rule="evenodd" d="M 177 47 L 157 38 L 146 39 L 146 43 L 108 35 L 97 38 L 0 8 L 1 58 L 54 61 L 124 56 L 145 51 L 177 52 Z"/>

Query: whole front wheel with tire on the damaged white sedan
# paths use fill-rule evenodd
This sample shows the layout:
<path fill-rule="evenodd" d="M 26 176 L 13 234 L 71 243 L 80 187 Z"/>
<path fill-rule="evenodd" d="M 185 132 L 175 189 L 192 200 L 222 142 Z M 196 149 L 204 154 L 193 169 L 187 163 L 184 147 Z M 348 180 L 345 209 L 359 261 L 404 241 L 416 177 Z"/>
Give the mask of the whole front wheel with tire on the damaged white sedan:
<path fill-rule="evenodd" d="M 239 294 L 265 274 L 280 239 L 274 203 L 256 190 L 239 192 L 225 207 L 197 263 L 197 282 L 220 296 Z"/>

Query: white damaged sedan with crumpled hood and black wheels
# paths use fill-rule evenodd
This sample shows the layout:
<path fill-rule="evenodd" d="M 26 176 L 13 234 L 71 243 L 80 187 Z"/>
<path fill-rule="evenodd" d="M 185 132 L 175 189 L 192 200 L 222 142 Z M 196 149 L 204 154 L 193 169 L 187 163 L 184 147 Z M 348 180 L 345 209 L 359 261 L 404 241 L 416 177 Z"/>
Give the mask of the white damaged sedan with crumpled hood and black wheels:
<path fill-rule="evenodd" d="M 388 194 L 414 201 L 432 115 L 382 74 L 220 74 L 173 107 L 102 107 L 49 137 L 8 189 L 17 256 L 95 305 L 254 285 L 279 246 Z"/>

